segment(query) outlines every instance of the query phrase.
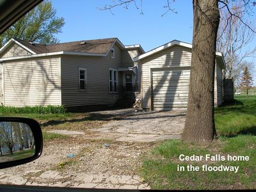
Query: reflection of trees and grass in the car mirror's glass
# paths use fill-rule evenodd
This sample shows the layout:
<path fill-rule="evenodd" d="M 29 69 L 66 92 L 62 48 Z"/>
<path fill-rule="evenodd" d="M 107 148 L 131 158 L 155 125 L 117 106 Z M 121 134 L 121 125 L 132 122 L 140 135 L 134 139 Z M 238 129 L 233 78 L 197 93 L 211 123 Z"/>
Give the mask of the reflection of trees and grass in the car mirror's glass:
<path fill-rule="evenodd" d="M 35 140 L 30 127 L 20 122 L 0 122 L 0 162 L 35 155 Z"/>

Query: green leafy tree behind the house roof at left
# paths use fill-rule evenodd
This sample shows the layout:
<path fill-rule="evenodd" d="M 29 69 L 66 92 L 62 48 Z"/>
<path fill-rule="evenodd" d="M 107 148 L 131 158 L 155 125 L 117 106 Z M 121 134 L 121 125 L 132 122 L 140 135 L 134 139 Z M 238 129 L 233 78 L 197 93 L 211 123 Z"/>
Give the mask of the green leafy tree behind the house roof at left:
<path fill-rule="evenodd" d="M 11 38 L 40 44 L 57 43 L 59 40 L 55 35 L 61 32 L 63 26 L 64 19 L 56 16 L 52 3 L 43 1 L 0 36 L 0 45 Z"/>

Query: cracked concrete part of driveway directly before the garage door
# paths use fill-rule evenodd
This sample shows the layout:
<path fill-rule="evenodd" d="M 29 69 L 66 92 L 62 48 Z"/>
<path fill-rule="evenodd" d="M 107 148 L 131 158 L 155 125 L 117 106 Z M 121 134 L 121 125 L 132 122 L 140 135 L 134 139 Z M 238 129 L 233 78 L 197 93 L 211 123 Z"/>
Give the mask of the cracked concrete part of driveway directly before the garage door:
<path fill-rule="evenodd" d="M 93 131 L 116 141 L 151 142 L 180 138 L 184 122 L 184 112 L 134 112 L 125 119 L 110 122 Z"/>

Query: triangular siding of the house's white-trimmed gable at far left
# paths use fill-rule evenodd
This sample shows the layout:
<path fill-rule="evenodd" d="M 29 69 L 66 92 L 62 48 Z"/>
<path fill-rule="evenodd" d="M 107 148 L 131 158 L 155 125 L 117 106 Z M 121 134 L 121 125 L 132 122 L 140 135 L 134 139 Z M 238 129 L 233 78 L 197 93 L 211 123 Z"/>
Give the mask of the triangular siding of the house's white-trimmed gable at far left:
<path fill-rule="evenodd" d="M 24 55 L 31 55 L 26 49 L 20 47 L 18 44 L 13 43 L 9 48 L 2 53 L 2 58 L 6 57 L 16 57 L 16 56 L 24 56 Z"/>

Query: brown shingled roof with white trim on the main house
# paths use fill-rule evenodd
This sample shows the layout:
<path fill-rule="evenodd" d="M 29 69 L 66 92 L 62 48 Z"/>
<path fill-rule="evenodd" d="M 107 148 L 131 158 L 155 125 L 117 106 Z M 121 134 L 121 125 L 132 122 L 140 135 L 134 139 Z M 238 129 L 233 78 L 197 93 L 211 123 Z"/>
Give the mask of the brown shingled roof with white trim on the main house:
<path fill-rule="evenodd" d="M 84 55 L 84 56 L 107 56 L 110 49 L 116 43 L 121 49 L 140 49 L 142 53 L 144 50 L 141 45 L 129 45 L 125 46 L 119 41 L 118 38 L 108 38 L 108 39 L 94 39 L 94 40 L 81 40 L 72 41 L 68 43 L 57 43 L 51 45 L 41 45 L 37 43 L 32 43 L 29 41 L 24 41 L 20 39 L 9 40 L 1 49 L 0 55 L 6 48 L 11 44 L 16 43 L 21 47 L 26 49 L 32 55 L 20 56 L 22 58 L 27 57 L 38 57 L 38 56 L 48 56 L 48 55 Z M 16 57 L 15 57 L 16 58 Z M 10 58 L 0 59 L 9 60 Z M 14 57 L 12 57 L 14 59 Z"/>

